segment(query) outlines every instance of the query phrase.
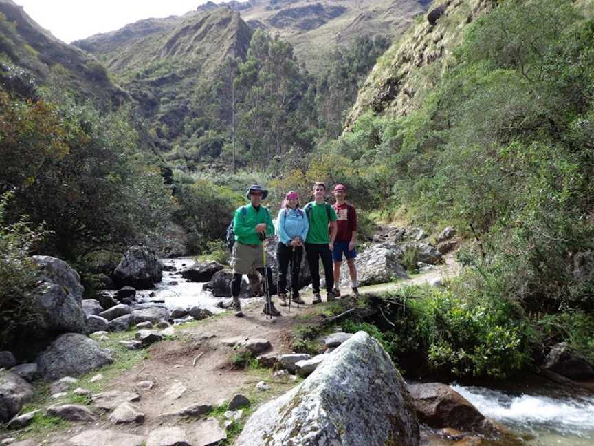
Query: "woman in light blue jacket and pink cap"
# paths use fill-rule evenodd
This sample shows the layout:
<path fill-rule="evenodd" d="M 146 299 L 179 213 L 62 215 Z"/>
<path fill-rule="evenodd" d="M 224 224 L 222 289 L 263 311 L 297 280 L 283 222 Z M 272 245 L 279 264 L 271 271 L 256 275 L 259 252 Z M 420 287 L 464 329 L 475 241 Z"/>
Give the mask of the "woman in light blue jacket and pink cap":
<path fill-rule="evenodd" d="M 281 306 L 287 306 L 287 270 L 291 266 L 292 301 L 305 304 L 299 297 L 299 270 L 303 259 L 303 242 L 307 237 L 309 222 L 307 215 L 299 207 L 299 195 L 290 191 L 285 196 L 284 206 L 278 212 L 276 220 L 276 259 L 278 260 L 278 297 Z"/>

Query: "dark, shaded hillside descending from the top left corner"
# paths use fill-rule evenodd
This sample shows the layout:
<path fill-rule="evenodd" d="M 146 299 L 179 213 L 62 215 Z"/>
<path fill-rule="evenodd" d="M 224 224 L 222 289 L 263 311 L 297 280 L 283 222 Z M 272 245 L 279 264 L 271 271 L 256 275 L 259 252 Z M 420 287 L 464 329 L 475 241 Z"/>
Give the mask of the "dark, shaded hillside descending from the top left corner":
<path fill-rule="evenodd" d="M 51 81 L 80 97 L 126 98 L 94 56 L 56 39 L 12 0 L 0 0 L 0 54 L 0 83 L 25 96 L 33 84 Z"/>

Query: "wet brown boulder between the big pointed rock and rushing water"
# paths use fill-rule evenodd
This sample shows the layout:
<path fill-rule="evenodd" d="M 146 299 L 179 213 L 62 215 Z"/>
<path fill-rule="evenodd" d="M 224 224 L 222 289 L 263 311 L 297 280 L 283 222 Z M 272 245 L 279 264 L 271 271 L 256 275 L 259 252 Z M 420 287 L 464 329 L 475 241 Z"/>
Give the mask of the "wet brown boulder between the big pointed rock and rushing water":
<path fill-rule="evenodd" d="M 448 385 L 414 384 L 408 386 L 408 391 L 419 421 L 430 427 L 480 430 L 485 423 L 485 416 Z"/>

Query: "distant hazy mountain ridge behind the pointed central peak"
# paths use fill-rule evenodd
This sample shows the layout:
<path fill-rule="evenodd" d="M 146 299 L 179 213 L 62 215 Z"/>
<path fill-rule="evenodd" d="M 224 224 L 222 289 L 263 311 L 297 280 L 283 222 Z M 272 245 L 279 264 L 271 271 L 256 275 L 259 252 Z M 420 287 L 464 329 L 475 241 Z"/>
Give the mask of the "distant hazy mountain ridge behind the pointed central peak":
<path fill-rule="evenodd" d="M 292 43 L 308 70 L 319 72 L 325 67 L 325 54 L 335 47 L 351 43 L 360 34 L 397 36 L 408 28 L 413 16 L 425 11 L 428 3 L 428 0 L 250 0 L 219 5 L 208 2 L 184 16 L 138 21 L 121 30 L 76 41 L 74 45 L 96 54 L 111 69 L 123 72 L 140 55 L 146 54 L 146 47 L 158 45 L 163 36 L 188 21 L 226 8 L 239 12 L 252 29 L 261 28 Z M 131 56 L 139 51 L 139 57 Z"/>

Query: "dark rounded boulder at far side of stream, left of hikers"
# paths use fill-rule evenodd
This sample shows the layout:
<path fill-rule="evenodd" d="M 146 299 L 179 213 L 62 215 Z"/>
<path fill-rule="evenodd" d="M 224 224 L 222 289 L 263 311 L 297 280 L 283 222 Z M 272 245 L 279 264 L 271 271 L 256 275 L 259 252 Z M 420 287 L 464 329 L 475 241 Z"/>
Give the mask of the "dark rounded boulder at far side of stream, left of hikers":
<path fill-rule="evenodd" d="M 118 286 L 153 288 L 163 278 L 163 263 L 150 249 L 131 246 L 113 271 L 112 277 Z"/>

